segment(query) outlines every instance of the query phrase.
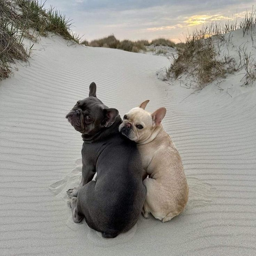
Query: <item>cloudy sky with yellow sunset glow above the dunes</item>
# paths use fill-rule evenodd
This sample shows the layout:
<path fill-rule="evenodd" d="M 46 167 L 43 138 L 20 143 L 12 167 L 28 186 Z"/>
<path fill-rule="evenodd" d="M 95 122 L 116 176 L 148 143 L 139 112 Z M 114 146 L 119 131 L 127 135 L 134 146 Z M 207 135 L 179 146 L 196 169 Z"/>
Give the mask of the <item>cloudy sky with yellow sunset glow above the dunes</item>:
<path fill-rule="evenodd" d="M 184 40 L 185 34 L 212 21 L 244 17 L 250 0 L 47 0 L 73 19 L 72 30 L 92 40 L 114 34 L 118 39 L 158 37 Z"/>

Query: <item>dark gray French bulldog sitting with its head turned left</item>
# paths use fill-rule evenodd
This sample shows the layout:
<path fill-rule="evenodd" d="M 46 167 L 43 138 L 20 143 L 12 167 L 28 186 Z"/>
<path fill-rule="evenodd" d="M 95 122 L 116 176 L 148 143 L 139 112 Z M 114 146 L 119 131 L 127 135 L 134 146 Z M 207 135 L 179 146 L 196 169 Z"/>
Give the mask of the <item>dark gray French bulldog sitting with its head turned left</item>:
<path fill-rule="evenodd" d="M 119 112 L 96 97 L 94 82 L 89 97 L 78 101 L 66 118 L 84 141 L 81 183 L 67 191 L 73 220 L 85 217 L 89 227 L 114 238 L 135 225 L 146 197 L 136 144 L 119 133 Z"/>

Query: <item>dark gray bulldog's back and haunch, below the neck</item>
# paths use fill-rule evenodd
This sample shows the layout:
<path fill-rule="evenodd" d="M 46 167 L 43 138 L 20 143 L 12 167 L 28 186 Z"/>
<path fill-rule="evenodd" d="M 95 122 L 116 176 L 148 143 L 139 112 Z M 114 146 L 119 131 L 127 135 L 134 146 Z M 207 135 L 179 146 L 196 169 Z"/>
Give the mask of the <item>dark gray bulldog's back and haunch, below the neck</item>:
<path fill-rule="evenodd" d="M 99 142 L 84 142 L 82 159 L 83 164 L 96 165 L 97 177 L 79 191 L 78 212 L 103 237 L 131 229 L 146 196 L 136 144 L 115 133 Z"/>

